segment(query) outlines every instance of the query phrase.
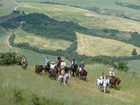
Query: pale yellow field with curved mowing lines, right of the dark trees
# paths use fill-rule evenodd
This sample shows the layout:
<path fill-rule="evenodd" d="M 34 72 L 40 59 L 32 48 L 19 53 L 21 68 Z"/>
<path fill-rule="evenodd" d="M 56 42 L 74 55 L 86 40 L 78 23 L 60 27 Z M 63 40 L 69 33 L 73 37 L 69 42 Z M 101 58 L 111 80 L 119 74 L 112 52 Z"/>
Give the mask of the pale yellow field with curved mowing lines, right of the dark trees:
<path fill-rule="evenodd" d="M 136 48 L 140 53 L 140 48 L 131 44 L 81 33 L 77 33 L 77 41 L 77 52 L 89 56 L 129 56 L 133 48 Z"/>

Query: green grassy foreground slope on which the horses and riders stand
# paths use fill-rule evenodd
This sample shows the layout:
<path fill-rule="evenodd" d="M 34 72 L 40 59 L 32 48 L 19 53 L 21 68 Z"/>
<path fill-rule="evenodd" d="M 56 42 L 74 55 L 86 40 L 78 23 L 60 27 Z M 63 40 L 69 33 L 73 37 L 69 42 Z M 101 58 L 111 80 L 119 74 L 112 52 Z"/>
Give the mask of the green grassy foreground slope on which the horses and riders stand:
<path fill-rule="evenodd" d="M 132 74 L 116 72 L 122 79 L 120 90 L 110 89 L 104 94 L 96 89 L 95 80 L 101 72 L 107 73 L 109 67 L 104 65 L 86 65 L 89 72 L 88 81 L 70 78 L 68 87 L 61 86 L 57 81 L 50 80 L 45 74 L 37 75 L 34 68 L 22 71 L 20 67 L 0 67 L 0 104 L 16 105 L 12 102 L 12 89 L 20 88 L 24 94 L 38 94 L 45 98 L 53 98 L 65 105 L 139 105 L 139 77 Z M 3 94 L 4 93 L 4 94 Z M 30 101 L 30 96 L 25 95 Z M 25 102 L 26 103 L 26 102 Z"/>

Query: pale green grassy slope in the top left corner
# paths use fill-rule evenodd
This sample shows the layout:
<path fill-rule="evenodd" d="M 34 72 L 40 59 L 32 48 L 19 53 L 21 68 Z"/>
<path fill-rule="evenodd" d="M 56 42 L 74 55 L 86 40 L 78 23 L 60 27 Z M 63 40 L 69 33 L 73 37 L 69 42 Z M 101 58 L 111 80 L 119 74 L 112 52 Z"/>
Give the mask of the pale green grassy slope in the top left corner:
<path fill-rule="evenodd" d="M 0 0 L 0 4 L 0 16 L 8 15 L 17 5 L 15 0 Z"/>

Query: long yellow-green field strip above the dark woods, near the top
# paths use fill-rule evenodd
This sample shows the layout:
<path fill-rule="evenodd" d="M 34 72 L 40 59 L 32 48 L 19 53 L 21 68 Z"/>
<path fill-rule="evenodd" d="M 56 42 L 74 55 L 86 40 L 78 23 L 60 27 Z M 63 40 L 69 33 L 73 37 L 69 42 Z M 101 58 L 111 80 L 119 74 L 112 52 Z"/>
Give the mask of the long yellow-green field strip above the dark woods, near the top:
<path fill-rule="evenodd" d="M 74 21 L 88 28 L 110 28 L 119 29 L 122 31 L 140 32 L 140 22 L 135 22 L 128 19 L 99 15 L 85 9 L 63 5 L 41 3 L 20 4 L 21 10 L 24 10 L 26 13 L 40 12 L 55 19 Z"/>

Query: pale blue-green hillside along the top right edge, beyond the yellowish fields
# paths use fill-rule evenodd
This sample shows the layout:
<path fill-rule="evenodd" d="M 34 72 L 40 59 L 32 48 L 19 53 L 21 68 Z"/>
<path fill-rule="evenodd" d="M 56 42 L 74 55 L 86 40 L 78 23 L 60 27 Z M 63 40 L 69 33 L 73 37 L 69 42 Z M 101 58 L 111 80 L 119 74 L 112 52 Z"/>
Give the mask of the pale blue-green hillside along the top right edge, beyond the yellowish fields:
<path fill-rule="evenodd" d="M 69 5 L 84 8 L 99 14 L 112 15 L 140 21 L 140 1 L 139 0 L 17 0 L 20 2 L 41 2 L 49 4 Z"/>

